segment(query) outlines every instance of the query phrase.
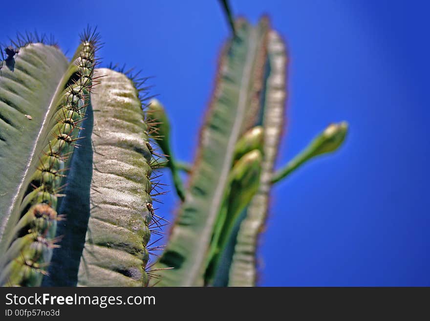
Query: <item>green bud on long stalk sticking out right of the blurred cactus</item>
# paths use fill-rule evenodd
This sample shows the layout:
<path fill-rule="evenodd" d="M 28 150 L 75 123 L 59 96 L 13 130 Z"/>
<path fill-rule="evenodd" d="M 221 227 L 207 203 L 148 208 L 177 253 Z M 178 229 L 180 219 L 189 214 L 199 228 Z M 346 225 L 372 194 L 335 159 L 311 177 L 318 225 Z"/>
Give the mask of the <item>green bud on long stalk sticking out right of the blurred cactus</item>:
<path fill-rule="evenodd" d="M 308 160 L 337 150 L 344 142 L 347 131 L 347 122 L 330 124 L 321 134 L 315 137 L 304 150 L 289 161 L 283 168 L 273 174 L 272 184 L 284 179 Z"/>

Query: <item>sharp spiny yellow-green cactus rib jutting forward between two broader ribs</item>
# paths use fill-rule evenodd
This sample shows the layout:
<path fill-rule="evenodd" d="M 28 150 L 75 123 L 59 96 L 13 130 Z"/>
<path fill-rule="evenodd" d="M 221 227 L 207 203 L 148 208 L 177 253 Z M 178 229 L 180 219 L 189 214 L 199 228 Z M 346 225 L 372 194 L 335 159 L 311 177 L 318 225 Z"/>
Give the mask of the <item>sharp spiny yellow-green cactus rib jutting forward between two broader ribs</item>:
<path fill-rule="evenodd" d="M 25 189 L 21 189 L 21 203 L 13 209 L 15 215 L 21 217 L 17 226 L 25 225 L 23 221 L 27 221 L 28 215 L 35 216 L 36 223 L 40 222 L 38 214 L 49 214 L 46 207 L 52 213 L 51 220 L 55 221 L 57 217 L 56 209 L 58 198 L 63 196 L 61 192 L 66 177 L 65 172 L 72 157 L 75 142 L 79 139 L 80 123 L 85 116 L 93 85 L 92 75 L 98 36 L 87 29 L 87 33 L 84 33 L 81 40 L 82 44 L 65 71 L 63 80 L 60 82 L 61 86 L 57 88 L 57 93 L 54 95 L 58 98 L 51 102 L 50 105 L 53 108 L 48 108 L 49 113 L 43 120 L 42 128 L 47 130 L 39 136 L 40 140 L 37 143 L 44 145 L 44 148 L 37 154 L 38 163 L 35 168 L 30 167 L 32 171 L 27 172 L 27 183 L 23 186 Z M 53 242 L 55 236 L 55 232 L 53 234 L 48 232 L 51 231 L 50 226 L 56 224 L 48 224 L 49 227 L 45 225 L 42 223 L 40 228 L 24 229 L 24 235 L 26 233 L 32 235 L 29 238 L 20 237 L 21 232 L 15 232 L 16 229 L 10 229 L 12 232 L 2 238 L 2 243 L 8 249 L 0 264 L 6 273 L 2 278 L 3 282 L 7 279 L 4 284 L 13 286 L 41 284 L 45 273 L 40 267 L 47 266 L 50 262 L 52 246 L 48 245 Z M 21 244 L 22 240 L 29 240 L 29 243 L 24 242 L 18 255 L 16 244 Z M 15 253 L 18 257 L 11 257 L 11 253 Z M 10 268 L 11 266 L 13 268 Z"/>

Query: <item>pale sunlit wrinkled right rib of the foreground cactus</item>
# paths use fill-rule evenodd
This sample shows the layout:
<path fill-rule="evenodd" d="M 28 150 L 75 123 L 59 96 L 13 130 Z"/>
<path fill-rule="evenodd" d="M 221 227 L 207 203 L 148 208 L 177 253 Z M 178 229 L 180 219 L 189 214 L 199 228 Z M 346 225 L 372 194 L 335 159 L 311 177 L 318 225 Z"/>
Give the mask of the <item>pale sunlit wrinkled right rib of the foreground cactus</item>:
<path fill-rule="evenodd" d="M 91 95 L 93 173 L 78 286 L 144 286 L 154 228 L 148 128 L 133 82 L 105 68 L 97 75 L 106 76 Z"/>

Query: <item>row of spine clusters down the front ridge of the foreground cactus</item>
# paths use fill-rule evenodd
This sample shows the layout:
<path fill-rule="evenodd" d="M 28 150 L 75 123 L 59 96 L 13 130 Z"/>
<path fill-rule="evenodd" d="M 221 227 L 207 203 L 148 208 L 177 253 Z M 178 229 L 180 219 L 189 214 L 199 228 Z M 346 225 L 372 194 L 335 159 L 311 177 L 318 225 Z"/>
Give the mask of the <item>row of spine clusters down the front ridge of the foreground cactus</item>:
<path fill-rule="evenodd" d="M 39 213 L 41 209 L 43 209 L 43 213 L 50 213 L 43 217 L 50 217 L 49 220 L 54 222 L 58 220 L 57 201 L 58 197 L 64 196 L 61 191 L 64 188 L 64 177 L 68 170 L 67 164 L 74 148 L 79 147 L 77 141 L 82 138 L 79 137 L 79 132 L 82 129 L 81 123 L 85 119 L 89 95 L 93 86 L 97 84 L 93 75 L 94 68 L 98 64 L 96 50 L 100 44 L 99 35 L 95 30 L 92 31 L 87 28 L 81 34 L 81 42 L 79 55 L 74 60 L 74 65 L 71 66 L 72 75 L 64 86 L 62 96 L 57 103 L 56 112 L 51 119 L 50 124 L 53 125 L 48 133 L 47 144 L 42 153 L 38 155 L 39 163 L 21 202 L 21 219 L 17 226 L 27 226 L 28 217 L 34 213 Z M 56 218 L 52 218 L 54 216 Z M 37 220 L 37 222 L 39 221 L 40 219 Z M 38 223 L 37 226 L 39 225 Z M 14 278 L 11 281 L 9 281 L 10 278 L 5 278 L 7 280 L 6 285 L 35 286 L 40 284 L 42 276 L 46 274 L 45 268 L 50 261 L 50 255 L 41 256 L 41 253 L 51 253 L 52 248 L 55 247 L 54 244 L 58 241 L 55 232 L 46 232 L 47 230 L 51 232 L 55 230 L 54 226 L 56 224 L 51 224 L 49 229 L 20 229 L 20 233 L 25 234 L 26 232 L 27 235 L 15 234 L 16 239 L 11 243 L 7 252 L 9 254 L 6 255 L 9 259 L 2 261 L 5 262 L 4 264 L 21 264 L 24 272 L 29 271 L 31 273 L 22 273 L 20 278 Z M 18 242 L 24 239 L 33 241 L 31 245 L 24 241 Z M 19 246 L 21 249 L 17 250 Z M 39 248 L 43 248 L 43 250 L 34 250 Z M 14 257 L 15 254 L 18 256 Z M 28 262 L 37 262 L 38 266 L 36 267 L 32 263 L 33 266 L 28 267 Z M 17 271 L 21 270 L 17 269 Z M 39 277 L 35 278 L 34 274 L 39 275 Z"/>

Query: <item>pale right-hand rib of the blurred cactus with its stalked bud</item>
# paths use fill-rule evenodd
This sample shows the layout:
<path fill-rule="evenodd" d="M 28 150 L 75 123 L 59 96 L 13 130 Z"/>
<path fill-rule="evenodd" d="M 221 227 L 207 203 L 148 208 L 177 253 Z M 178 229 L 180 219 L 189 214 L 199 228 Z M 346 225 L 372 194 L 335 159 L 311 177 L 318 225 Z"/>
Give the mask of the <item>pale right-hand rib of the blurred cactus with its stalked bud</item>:
<path fill-rule="evenodd" d="M 266 81 L 266 95 L 263 108 L 263 162 L 259 190 L 243 213 L 243 220 L 232 233 L 232 240 L 225 248 L 227 257 L 224 264 L 231 267 L 218 274 L 215 284 L 223 286 L 256 286 L 258 276 L 257 247 L 258 236 L 264 230 L 268 213 L 268 200 L 272 184 L 285 179 L 288 174 L 297 170 L 302 164 L 314 157 L 337 150 L 343 143 L 347 124 L 329 125 L 318 135 L 305 150 L 288 162 L 283 168 L 274 172 L 274 162 L 283 129 L 283 114 L 286 99 L 287 56 L 285 45 L 275 31 L 271 31 L 268 43 L 268 68 L 270 76 Z M 237 235 L 237 236 L 236 236 Z M 232 248 L 234 247 L 234 249 Z"/>

